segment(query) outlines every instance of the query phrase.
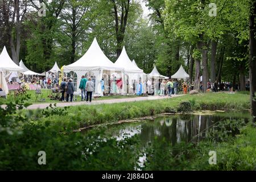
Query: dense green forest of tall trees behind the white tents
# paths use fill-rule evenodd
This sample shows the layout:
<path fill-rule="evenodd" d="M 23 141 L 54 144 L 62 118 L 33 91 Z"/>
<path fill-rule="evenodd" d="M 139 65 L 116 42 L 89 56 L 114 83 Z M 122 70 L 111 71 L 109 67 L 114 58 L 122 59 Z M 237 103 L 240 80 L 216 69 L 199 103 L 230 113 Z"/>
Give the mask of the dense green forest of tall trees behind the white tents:
<path fill-rule="evenodd" d="M 146 18 L 142 1 L 151 10 Z M 6 46 L 15 63 L 22 59 L 33 71 L 44 72 L 55 61 L 73 63 L 97 37 L 113 62 L 125 46 L 145 73 L 156 64 L 162 75 L 171 76 L 182 64 L 196 86 L 203 76 L 205 87 L 210 79 L 245 90 L 249 2 L 2 0 L 0 49 Z"/>

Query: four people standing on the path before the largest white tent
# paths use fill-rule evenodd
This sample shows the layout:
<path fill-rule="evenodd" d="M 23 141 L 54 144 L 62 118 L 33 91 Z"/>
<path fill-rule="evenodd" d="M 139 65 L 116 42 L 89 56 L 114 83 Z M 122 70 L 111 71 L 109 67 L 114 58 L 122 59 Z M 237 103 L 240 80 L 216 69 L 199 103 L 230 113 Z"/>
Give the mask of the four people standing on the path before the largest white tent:
<path fill-rule="evenodd" d="M 94 88 L 94 82 L 92 81 L 92 78 L 85 78 L 85 76 L 82 76 L 82 79 L 80 81 L 79 88 L 81 89 L 81 101 L 86 102 L 92 102 L 92 93 Z M 63 78 L 63 81 L 60 84 L 60 92 L 61 92 L 61 101 L 70 101 L 73 102 L 73 96 L 75 92 L 75 88 L 73 86 L 73 80 L 69 79 L 67 81 L 66 78 Z"/>

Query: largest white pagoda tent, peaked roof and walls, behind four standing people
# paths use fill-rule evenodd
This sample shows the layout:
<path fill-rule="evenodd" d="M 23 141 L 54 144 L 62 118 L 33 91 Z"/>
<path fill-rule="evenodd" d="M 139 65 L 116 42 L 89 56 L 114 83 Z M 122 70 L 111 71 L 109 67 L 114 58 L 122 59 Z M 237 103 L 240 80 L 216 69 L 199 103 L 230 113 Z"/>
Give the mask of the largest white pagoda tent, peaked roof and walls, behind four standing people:
<path fill-rule="evenodd" d="M 118 73 L 123 78 L 123 68 L 118 67 L 106 57 L 96 38 L 94 38 L 92 45 L 84 56 L 75 63 L 64 66 L 63 71 L 67 73 L 68 78 L 73 78 L 76 93 L 81 93 L 79 89 L 81 76 L 91 77 L 95 83 L 94 96 L 103 96 L 101 89 L 102 78 L 104 78 L 105 93 L 106 89 L 110 87 L 109 80 L 113 73 Z"/>

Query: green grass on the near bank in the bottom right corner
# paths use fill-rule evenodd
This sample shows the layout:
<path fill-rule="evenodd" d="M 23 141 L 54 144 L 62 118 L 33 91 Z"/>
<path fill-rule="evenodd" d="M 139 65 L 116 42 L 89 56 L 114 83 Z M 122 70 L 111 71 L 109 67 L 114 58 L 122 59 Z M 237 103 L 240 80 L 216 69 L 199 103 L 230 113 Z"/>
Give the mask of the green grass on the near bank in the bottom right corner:
<path fill-rule="evenodd" d="M 189 169 L 196 170 L 256 170 L 256 128 L 250 124 L 228 142 L 200 142 L 189 160 Z M 216 151 L 217 165 L 208 163 L 209 151 Z"/>

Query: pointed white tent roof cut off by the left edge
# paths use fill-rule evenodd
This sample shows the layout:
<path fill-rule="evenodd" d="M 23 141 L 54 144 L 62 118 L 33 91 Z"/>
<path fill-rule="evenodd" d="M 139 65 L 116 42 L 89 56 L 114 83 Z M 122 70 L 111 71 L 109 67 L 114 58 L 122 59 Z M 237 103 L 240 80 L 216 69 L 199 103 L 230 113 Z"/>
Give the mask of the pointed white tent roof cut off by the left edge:
<path fill-rule="evenodd" d="M 0 55 L 0 70 L 2 71 L 23 71 L 23 68 L 20 68 L 18 65 L 11 60 L 6 47 L 3 47 L 3 51 Z"/>

